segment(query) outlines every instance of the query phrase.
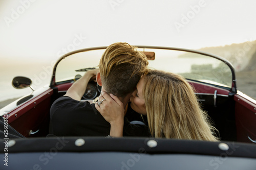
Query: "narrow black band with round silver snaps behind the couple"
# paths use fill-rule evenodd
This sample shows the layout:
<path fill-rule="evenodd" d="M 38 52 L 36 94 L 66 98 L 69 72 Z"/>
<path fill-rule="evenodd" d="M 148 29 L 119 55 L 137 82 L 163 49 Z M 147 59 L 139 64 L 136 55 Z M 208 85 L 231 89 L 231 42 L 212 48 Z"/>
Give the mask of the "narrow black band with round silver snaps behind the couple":
<path fill-rule="evenodd" d="M 80 146 L 77 146 L 77 142 Z M 81 142 L 82 141 L 82 142 Z M 17 138 L 9 140 L 15 143 L 8 153 L 47 152 L 56 148 L 58 152 L 139 152 L 143 149 L 148 154 L 197 154 L 220 156 L 226 153 L 229 157 L 256 158 L 256 145 L 240 142 L 209 142 L 198 140 L 156 139 L 156 138 L 104 138 L 104 137 L 38 137 Z M 83 144 L 84 143 L 84 144 Z M 152 145 L 152 144 L 153 145 Z M 225 145 L 227 144 L 227 145 Z M 0 147 L 4 148 L 1 142 Z M 225 145 L 228 148 L 221 148 Z M 58 149 L 61 148 L 61 149 Z M 227 150 L 226 150 L 227 149 Z M 225 151 L 226 150 L 226 151 Z M 0 153 L 4 153 L 0 150 Z"/>

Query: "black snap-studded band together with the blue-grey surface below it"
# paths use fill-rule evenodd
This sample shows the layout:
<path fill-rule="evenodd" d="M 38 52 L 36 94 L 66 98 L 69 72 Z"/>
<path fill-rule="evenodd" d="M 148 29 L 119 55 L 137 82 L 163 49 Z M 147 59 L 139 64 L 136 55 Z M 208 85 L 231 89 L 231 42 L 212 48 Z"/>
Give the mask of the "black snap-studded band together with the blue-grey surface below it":
<path fill-rule="evenodd" d="M 47 137 L 4 140 L 0 147 L 0 169 L 256 168 L 256 145 L 238 142 Z"/>

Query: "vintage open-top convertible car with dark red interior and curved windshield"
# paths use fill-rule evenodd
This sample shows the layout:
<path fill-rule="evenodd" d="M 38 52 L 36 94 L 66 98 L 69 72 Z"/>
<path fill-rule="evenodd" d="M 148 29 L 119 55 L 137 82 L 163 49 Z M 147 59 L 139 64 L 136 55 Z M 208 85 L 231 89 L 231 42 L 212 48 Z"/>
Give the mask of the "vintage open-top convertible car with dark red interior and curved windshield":
<path fill-rule="evenodd" d="M 151 69 L 180 74 L 194 87 L 199 102 L 219 131 L 220 142 L 46 137 L 52 103 L 84 72 L 97 68 L 105 48 L 85 48 L 63 55 L 53 68 L 50 85 L 31 88 L 30 94 L 0 110 L 5 118 L 4 130 L 8 130 L 8 123 L 26 137 L 15 139 L 8 137 L 8 131 L 4 133 L 0 144 L 4 160 L 1 169 L 256 168 L 256 101 L 237 90 L 235 70 L 225 58 L 183 48 L 138 46 Z M 15 77 L 12 81 L 15 88 L 31 84 L 26 77 Z M 96 102 L 100 90 L 95 78 L 91 79 L 81 101 Z M 126 116 L 130 121 L 141 118 L 136 113 Z"/>

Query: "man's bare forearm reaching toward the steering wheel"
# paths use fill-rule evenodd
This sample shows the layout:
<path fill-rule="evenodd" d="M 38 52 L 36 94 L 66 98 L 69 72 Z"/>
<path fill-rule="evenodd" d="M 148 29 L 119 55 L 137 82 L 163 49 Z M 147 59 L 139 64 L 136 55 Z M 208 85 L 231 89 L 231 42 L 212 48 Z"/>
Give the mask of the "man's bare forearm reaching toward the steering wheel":
<path fill-rule="evenodd" d="M 78 79 L 72 86 L 68 89 L 64 96 L 69 96 L 70 98 L 80 101 L 84 92 L 86 92 L 86 87 L 90 79 L 97 75 L 99 69 L 92 69 L 87 71 L 80 79 Z"/>

